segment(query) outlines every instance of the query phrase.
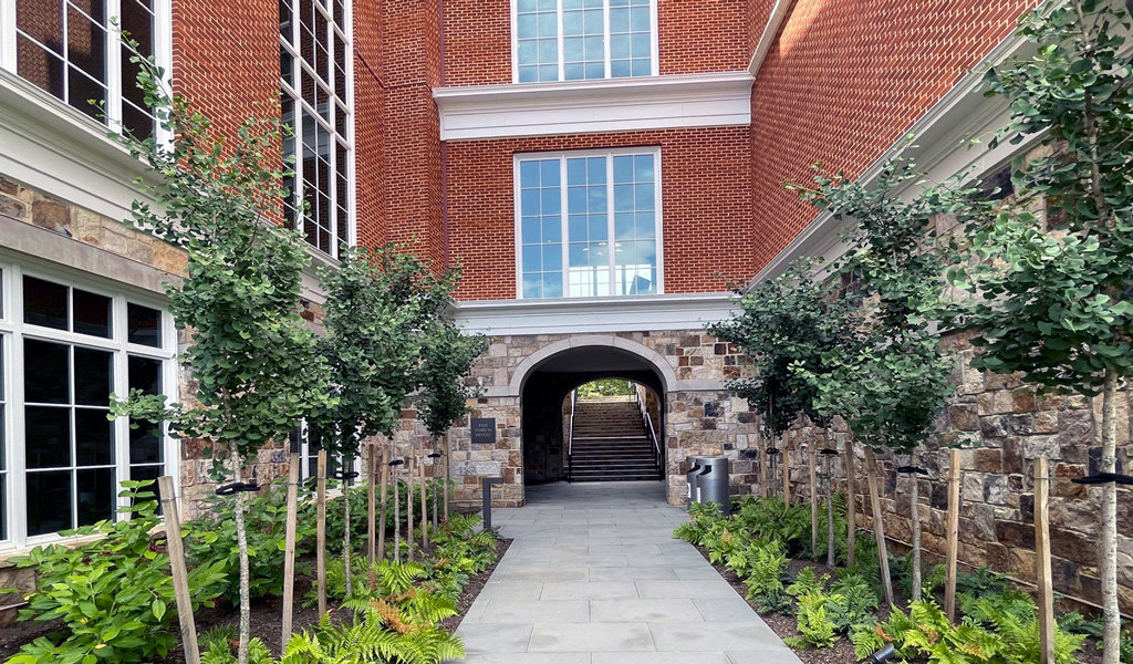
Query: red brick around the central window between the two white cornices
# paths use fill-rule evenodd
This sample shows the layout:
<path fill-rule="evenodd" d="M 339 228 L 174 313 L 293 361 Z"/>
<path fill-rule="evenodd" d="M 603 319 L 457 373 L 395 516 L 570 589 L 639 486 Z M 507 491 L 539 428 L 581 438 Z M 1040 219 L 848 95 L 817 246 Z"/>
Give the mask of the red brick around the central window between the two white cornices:
<path fill-rule="evenodd" d="M 725 290 L 755 265 L 748 142 L 747 127 L 723 127 L 450 143 L 451 256 L 465 270 L 457 297 L 516 297 L 516 153 L 658 145 L 665 291 Z"/>

